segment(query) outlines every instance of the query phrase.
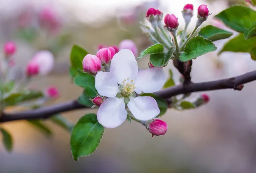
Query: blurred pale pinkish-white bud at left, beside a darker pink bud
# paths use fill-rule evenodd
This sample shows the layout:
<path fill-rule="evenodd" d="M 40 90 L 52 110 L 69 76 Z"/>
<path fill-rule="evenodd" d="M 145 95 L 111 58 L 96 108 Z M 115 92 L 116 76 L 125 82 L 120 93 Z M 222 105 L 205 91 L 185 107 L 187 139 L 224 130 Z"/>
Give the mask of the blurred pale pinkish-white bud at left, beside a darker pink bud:
<path fill-rule="evenodd" d="M 54 68 L 54 56 L 50 51 L 38 51 L 31 62 L 35 62 L 39 65 L 39 74 L 47 75 Z"/>

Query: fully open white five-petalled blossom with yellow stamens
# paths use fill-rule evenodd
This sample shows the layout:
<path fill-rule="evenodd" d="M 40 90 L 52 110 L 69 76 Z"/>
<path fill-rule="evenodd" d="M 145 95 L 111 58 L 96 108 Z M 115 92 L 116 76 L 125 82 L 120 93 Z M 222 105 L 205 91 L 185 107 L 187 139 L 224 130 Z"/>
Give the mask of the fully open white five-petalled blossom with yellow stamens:
<path fill-rule="evenodd" d="M 97 112 L 97 119 L 105 128 L 115 128 L 127 117 L 124 99 L 129 98 L 127 106 L 135 118 L 152 119 L 160 113 L 157 102 L 150 96 L 134 97 L 135 93 L 159 91 L 166 81 L 162 68 L 148 68 L 138 71 L 134 54 L 122 49 L 111 60 L 110 72 L 98 72 L 95 88 L 102 96 L 107 96 Z M 119 85 L 118 85 L 119 84 Z M 121 98 L 116 94 L 120 93 Z"/>

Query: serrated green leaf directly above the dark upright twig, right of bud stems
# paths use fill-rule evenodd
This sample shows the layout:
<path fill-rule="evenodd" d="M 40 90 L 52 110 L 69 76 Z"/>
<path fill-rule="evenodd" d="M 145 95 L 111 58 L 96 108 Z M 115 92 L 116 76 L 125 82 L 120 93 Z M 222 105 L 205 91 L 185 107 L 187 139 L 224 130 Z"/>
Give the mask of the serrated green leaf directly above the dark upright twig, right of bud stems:
<path fill-rule="evenodd" d="M 180 55 L 180 61 L 193 60 L 208 52 L 216 51 L 216 46 L 212 41 L 205 39 L 202 36 L 192 37 L 188 43 L 186 43 L 183 53 Z"/>

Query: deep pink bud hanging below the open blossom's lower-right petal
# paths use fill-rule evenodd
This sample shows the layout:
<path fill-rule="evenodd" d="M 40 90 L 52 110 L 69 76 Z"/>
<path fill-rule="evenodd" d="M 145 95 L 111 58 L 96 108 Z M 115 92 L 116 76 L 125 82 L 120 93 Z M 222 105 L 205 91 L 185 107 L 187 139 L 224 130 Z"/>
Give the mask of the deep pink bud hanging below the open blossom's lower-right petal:
<path fill-rule="evenodd" d="M 150 133 L 152 133 L 152 137 L 164 135 L 167 131 L 167 124 L 166 122 L 160 120 L 160 119 L 154 119 L 154 121 L 150 122 L 148 125 L 148 130 Z"/>

